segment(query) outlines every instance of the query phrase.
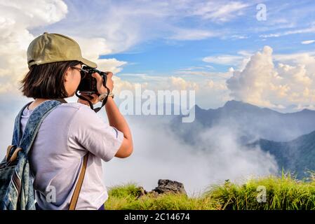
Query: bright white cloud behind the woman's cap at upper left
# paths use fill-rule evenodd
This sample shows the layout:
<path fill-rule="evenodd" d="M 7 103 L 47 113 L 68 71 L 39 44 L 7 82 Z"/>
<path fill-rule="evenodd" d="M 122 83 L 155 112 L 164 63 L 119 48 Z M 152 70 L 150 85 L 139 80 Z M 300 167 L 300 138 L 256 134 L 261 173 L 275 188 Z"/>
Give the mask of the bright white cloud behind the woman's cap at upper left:
<path fill-rule="evenodd" d="M 61 0 L 0 1 L 0 94 L 20 96 L 18 80 L 27 73 L 27 47 L 36 37 L 35 27 L 59 22 L 67 15 L 67 5 Z M 110 49 L 104 38 L 71 36 L 81 46 L 83 57 L 93 60 L 100 69 L 119 73 L 126 62 L 99 59 Z"/>

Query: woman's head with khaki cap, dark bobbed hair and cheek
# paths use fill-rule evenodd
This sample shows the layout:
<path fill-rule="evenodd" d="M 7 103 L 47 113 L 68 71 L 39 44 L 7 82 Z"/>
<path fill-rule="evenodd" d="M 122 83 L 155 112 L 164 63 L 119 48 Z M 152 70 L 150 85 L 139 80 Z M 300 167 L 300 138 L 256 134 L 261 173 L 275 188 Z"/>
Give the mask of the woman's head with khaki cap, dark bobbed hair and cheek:
<path fill-rule="evenodd" d="M 61 34 L 44 33 L 27 49 L 29 71 L 20 80 L 26 97 L 58 99 L 74 96 L 81 81 L 82 64 L 96 68 L 81 55 L 79 44 Z M 76 68 L 77 69 L 76 69 Z"/>

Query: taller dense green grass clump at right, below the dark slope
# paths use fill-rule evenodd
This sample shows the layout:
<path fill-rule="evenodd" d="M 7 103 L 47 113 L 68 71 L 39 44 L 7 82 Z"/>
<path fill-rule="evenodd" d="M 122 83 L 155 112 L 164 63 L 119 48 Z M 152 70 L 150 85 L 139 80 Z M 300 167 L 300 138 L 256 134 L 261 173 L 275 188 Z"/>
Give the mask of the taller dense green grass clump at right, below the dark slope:
<path fill-rule="evenodd" d="M 265 201 L 262 190 L 265 189 Z M 301 210 L 315 209 L 315 181 L 298 181 L 290 175 L 250 179 L 243 185 L 227 181 L 213 186 L 204 195 L 233 210 Z"/>

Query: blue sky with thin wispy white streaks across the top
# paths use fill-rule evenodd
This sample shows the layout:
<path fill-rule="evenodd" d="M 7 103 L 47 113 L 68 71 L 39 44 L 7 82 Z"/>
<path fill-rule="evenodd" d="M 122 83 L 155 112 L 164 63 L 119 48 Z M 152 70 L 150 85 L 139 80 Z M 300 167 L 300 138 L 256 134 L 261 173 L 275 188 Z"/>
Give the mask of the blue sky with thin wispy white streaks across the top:
<path fill-rule="evenodd" d="M 279 53 L 309 50 L 309 46 L 302 45 L 301 42 L 314 38 L 314 31 L 304 31 L 302 34 L 283 35 L 277 38 L 262 37 L 263 35 L 283 34 L 286 31 L 314 27 L 314 1 L 221 1 L 222 3 L 177 1 L 183 2 L 184 6 L 175 15 L 171 13 L 176 10 L 176 1 L 161 2 L 168 3 L 169 8 L 159 6 L 154 1 L 82 1 L 79 3 L 78 1 L 65 1 L 68 8 L 65 19 L 45 27 L 34 27 L 32 32 L 41 34 L 43 29 L 51 31 L 67 29 L 69 34 L 106 38 L 108 36 L 106 28 L 110 27 L 113 22 L 107 20 L 106 13 L 109 11 L 113 13 L 112 8 L 121 8 L 123 14 L 119 15 L 118 10 L 115 16 L 116 18 L 121 16 L 122 20 L 130 18 L 129 22 L 120 22 L 120 26 L 121 28 L 128 27 L 128 25 L 135 26 L 137 28 L 135 32 L 138 33 L 137 40 L 127 44 L 122 50 L 115 49 L 114 51 L 119 51 L 118 53 L 101 57 L 115 57 L 141 64 L 141 68 L 131 64 L 130 66 L 134 69 L 126 68 L 128 72 L 138 72 L 143 69 L 145 71 L 154 70 L 156 73 L 173 71 L 182 66 L 203 64 L 201 59 L 209 55 L 234 55 L 240 50 L 255 52 L 264 45 L 271 45 Z M 227 13 L 213 15 L 215 12 L 211 11 L 211 8 L 202 11 L 202 7 L 206 8 L 206 4 L 211 2 L 213 7 L 217 8 L 230 5 L 230 12 L 227 9 Z M 234 3 L 237 3 L 238 6 L 233 7 Z M 256 19 L 258 3 L 264 3 L 267 6 L 267 20 L 265 21 Z M 141 13 L 138 16 L 131 13 L 129 16 L 126 10 L 135 9 L 138 6 L 142 8 Z M 187 13 L 191 6 L 195 7 L 192 7 L 194 10 Z M 145 10 L 148 12 L 145 13 Z M 159 13 L 158 10 L 162 10 L 162 12 L 161 15 L 149 15 L 150 10 L 155 10 L 156 14 Z M 200 12 L 196 12 L 197 10 Z M 86 21 L 87 18 L 90 21 Z M 146 19 L 148 19 L 147 22 L 141 21 Z M 100 23 L 95 24 L 98 20 Z M 161 25 L 161 22 L 166 22 L 166 24 Z M 88 27 L 91 24 L 93 26 Z M 76 29 L 69 28 L 70 25 Z M 154 29 L 154 25 L 156 29 Z M 172 27 L 174 32 L 171 30 Z M 180 31 L 176 31 L 176 29 L 185 30 L 182 39 L 180 39 Z M 189 38 L 186 33 L 189 29 L 192 29 L 195 36 Z M 96 33 L 100 31 L 99 35 L 89 34 L 93 30 Z M 209 32 L 209 34 L 203 36 L 200 34 L 201 31 Z M 128 35 L 128 32 L 115 30 L 114 34 L 117 34 L 117 39 L 124 40 L 123 34 Z M 115 38 L 114 34 L 110 38 Z M 125 43 L 121 43 L 121 45 L 125 45 Z M 162 66 L 158 66 L 156 60 L 159 60 L 159 64 L 161 63 Z M 167 65 L 170 70 L 164 70 L 163 65 Z"/>

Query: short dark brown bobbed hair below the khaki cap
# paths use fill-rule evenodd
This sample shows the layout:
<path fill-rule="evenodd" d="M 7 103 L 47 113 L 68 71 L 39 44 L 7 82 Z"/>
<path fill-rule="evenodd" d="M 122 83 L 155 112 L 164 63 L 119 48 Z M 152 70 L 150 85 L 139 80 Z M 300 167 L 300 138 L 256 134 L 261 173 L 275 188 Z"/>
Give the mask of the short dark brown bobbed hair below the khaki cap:
<path fill-rule="evenodd" d="M 78 61 L 52 62 L 33 65 L 25 77 L 20 80 L 22 94 L 25 97 L 60 99 L 67 98 L 65 73 L 70 66 L 81 64 Z"/>

